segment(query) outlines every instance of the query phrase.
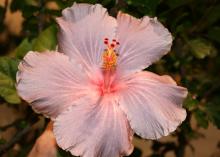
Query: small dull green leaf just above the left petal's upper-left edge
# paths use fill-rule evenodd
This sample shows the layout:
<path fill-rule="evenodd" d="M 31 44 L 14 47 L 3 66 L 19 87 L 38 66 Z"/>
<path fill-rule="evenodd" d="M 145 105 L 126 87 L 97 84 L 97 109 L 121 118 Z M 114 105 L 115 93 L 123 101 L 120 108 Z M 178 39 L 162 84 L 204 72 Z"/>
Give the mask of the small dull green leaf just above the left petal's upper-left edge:
<path fill-rule="evenodd" d="M 31 43 L 25 38 L 20 45 L 14 50 L 14 54 L 17 58 L 22 59 L 25 54 L 32 49 Z"/>

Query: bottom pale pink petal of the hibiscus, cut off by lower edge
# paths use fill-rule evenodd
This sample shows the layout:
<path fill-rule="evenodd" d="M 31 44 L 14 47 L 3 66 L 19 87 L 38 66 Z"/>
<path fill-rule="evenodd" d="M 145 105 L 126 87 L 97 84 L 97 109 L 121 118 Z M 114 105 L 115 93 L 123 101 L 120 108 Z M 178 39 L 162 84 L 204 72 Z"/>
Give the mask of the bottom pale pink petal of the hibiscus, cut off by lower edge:
<path fill-rule="evenodd" d="M 121 157 L 132 152 L 133 132 L 117 101 L 102 97 L 78 104 L 55 120 L 54 134 L 62 149 L 82 157 Z"/>

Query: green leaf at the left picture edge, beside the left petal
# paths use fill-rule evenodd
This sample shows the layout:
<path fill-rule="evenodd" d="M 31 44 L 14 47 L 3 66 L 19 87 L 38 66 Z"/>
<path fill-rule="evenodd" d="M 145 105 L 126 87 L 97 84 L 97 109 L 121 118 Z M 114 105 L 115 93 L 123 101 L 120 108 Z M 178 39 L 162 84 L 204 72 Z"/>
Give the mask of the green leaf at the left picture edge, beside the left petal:
<path fill-rule="evenodd" d="M 0 97 L 11 104 L 21 102 L 15 89 L 18 62 L 8 57 L 0 58 Z"/>

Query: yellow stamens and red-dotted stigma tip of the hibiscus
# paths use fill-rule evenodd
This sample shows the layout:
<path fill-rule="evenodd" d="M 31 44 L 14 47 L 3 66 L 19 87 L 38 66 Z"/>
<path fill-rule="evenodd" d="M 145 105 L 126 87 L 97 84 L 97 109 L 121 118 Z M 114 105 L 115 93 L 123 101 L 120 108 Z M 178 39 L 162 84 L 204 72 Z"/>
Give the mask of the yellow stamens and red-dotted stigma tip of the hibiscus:
<path fill-rule="evenodd" d="M 103 52 L 102 55 L 102 68 L 107 71 L 114 70 L 117 65 L 117 58 L 118 55 L 115 51 L 115 48 L 117 45 L 119 45 L 119 42 L 116 39 L 113 39 L 111 43 L 109 43 L 109 39 L 104 39 L 104 44 L 106 45 L 106 49 Z"/>

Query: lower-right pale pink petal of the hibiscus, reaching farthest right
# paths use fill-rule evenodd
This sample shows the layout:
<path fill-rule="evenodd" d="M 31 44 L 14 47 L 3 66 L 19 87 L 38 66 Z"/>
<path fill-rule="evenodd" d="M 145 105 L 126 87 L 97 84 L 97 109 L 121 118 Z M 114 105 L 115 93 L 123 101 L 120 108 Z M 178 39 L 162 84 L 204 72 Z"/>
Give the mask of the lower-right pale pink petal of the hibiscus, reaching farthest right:
<path fill-rule="evenodd" d="M 139 72 L 124 79 L 119 106 L 131 128 L 141 137 L 158 139 L 174 131 L 186 118 L 182 108 L 187 90 L 168 76 Z"/>

